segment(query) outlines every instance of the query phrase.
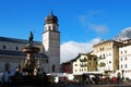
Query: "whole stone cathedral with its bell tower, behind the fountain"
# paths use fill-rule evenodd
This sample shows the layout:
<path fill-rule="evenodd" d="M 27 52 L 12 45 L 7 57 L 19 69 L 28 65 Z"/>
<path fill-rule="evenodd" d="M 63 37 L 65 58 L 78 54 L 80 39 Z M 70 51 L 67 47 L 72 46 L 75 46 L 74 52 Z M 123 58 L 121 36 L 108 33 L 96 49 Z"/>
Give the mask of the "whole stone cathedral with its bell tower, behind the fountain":
<path fill-rule="evenodd" d="M 35 54 L 35 60 L 46 73 L 60 72 L 60 32 L 58 30 L 58 17 L 52 12 L 45 18 L 43 41 L 34 41 L 40 49 Z M 0 37 L 0 73 L 15 70 L 24 60 L 26 54 L 22 49 L 28 40 Z"/>

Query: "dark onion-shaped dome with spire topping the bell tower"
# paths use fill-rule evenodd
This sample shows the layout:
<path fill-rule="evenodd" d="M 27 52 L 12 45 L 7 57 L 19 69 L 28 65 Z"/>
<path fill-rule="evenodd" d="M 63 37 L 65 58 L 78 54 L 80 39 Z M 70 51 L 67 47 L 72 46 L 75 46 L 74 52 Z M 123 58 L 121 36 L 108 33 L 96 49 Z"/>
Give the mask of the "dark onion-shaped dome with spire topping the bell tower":
<path fill-rule="evenodd" d="M 53 15 L 52 11 L 50 12 L 50 14 L 46 17 L 45 20 L 46 24 L 57 24 L 58 25 L 58 17 L 56 15 Z"/>

